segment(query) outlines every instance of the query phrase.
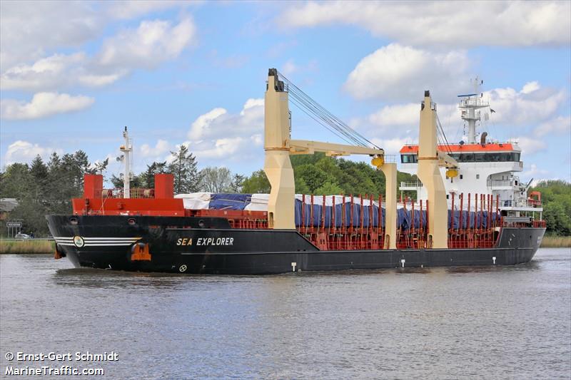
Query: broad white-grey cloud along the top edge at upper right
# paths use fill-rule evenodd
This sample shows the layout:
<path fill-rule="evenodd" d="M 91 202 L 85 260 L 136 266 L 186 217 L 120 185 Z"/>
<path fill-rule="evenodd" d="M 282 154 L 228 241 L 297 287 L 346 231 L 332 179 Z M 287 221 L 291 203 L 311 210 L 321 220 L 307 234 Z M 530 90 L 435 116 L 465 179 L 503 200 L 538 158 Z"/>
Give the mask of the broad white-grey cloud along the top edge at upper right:
<path fill-rule="evenodd" d="M 570 14 L 569 1 L 308 1 L 278 19 L 288 29 L 348 24 L 408 45 L 458 48 L 568 46 Z"/>

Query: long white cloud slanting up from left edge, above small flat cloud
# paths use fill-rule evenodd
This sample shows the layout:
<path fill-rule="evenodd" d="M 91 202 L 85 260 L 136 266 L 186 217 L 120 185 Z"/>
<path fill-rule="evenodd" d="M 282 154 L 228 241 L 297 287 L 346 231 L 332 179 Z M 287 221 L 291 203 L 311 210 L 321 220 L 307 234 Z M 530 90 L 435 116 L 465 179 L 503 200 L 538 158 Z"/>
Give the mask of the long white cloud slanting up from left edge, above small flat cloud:
<path fill-rule="evenodd" d="M 72 86 L 99 87 L 114 83 L 137 68 L 156 68 L 176 58 L 196 39 L 191 19 L 141 21 L 103 42 L 95 56 L 56 53 L 34 63 L 9 66 L 0 75 L 4 90 L 61 91 Z M 6 65 L 3 65 L 5 67 Z"/>

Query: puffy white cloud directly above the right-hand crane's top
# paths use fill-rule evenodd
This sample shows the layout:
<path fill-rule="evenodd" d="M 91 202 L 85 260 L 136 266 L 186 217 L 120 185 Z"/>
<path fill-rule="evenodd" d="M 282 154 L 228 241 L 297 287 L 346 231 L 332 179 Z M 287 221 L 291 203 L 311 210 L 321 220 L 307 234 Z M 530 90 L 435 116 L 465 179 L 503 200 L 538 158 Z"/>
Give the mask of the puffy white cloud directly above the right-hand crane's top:
<path fill-rule="evenodd" d="M 434 53 L 391 43 L 361 59 L 345 89 L 357 99 L 422 100 L 430 90 L 437 100 L 465 88 L 469 60 L 465 51 Z"/>

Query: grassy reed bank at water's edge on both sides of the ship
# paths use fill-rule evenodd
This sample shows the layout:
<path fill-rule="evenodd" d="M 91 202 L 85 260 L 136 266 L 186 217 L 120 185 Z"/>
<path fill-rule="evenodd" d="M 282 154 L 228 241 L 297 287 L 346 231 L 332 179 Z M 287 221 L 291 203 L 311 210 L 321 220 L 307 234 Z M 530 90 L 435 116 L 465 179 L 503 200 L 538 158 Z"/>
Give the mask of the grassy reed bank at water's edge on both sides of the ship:
<path fill-rule="evenodd" d="M 571 247 L 571 236 L 545 236 L 540 248 Z M 0 239 L 0 255 L 10 254 L 53 254 L 53 240 L 4 240 Z"/>

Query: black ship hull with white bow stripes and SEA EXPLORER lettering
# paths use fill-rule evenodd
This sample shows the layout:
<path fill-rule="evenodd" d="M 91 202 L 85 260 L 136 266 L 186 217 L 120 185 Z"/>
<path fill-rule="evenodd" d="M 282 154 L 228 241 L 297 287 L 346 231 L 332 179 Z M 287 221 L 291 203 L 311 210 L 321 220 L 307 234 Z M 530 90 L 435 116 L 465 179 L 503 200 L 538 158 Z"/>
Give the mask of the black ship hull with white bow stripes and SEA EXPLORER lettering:
<path fill-rule="evenodd" d="M 545 233 L 545 228 L 504 227 L 493 248 L 320 251 L 296 231 L 230 229 L 220 218 L 46 218 L 59 252 L 76 267 L 186 274 L 517 265 L 532 260 Z M 83 238 L 82 247 L 71 240 L 76 236 Z M 150 261 L 131 260 L 138 243 L 148 244 Z"/>

